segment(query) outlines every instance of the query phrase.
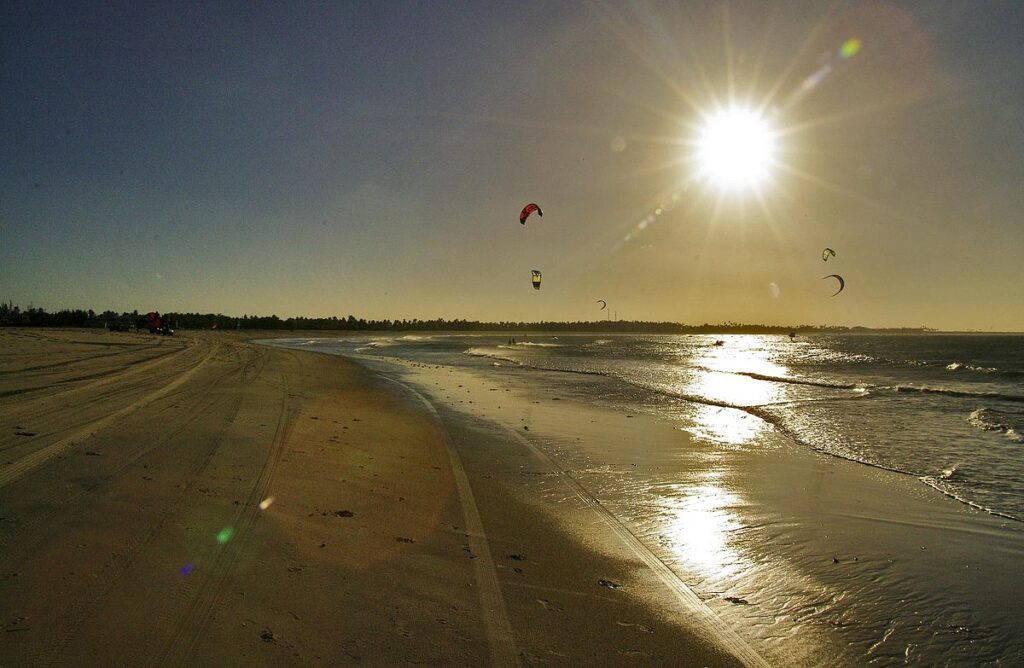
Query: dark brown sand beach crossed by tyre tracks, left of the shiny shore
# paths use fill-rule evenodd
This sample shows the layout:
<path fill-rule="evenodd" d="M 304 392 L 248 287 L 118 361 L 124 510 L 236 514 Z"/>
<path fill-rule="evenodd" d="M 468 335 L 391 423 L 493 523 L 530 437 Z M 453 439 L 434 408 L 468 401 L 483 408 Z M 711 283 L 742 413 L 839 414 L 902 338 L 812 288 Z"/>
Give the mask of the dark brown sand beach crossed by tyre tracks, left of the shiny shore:
<path fill-rule="evenodd" d="M 0 665 L 759 662 L 593 499 L 544 512 L 542 451 L 442 417 L 233 333 L 0 331 Z"/>

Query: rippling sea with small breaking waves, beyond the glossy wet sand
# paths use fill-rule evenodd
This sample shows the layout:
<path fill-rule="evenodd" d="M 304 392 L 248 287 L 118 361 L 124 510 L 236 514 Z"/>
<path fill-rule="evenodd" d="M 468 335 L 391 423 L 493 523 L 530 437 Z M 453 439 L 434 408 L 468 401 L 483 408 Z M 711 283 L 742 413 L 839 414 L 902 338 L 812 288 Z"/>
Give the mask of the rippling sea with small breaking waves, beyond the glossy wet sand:
<path fill-rule="evenodd" d="M 659 415 L 696 406 L 705 416 L 696 435 L 733 445 L 753 437 L 757 421 L 731 413 L 725 421 L 712 409 L 740 408 L 809 448 L 907 472 L 1024 519 L 1022 336 L 561 335 L 511 344 L 412 335 L 333 345 L 457 367 L 602 375 L 620 382 L 595 399 Z"/>

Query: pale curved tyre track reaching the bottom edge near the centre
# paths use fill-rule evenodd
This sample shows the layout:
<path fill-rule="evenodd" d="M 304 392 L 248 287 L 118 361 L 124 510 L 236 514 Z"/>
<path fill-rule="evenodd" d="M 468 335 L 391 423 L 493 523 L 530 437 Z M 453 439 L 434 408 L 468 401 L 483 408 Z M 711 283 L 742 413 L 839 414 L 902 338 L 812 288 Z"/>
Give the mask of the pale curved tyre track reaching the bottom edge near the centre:
<path fill-rule="evenodd" d="M 494 557 L 490 555 L 490 547 L 487 544 L 487 536 L 483 531 L 483 521 L 480 519 L 480 512 L 476 508 L 476 500 L 473 498 L 473 488 L 469 485 L 469 477 L 466 469 L 462 465 L 459 453 L 452 445 L 444 427 L 441 416 L 430 401 L 419 391 L 406 383 L 380 375 L 380 378 L 392 382 L 407 392 L 416 396 L 427 409 L 427 412 L 437 421 L 441 428 L 441 437 L 444 441 L 444 449 L 447 450 L 449 459 L 452 462 L 452 473 L 455 475 L 456 489 L 459 491 L 459 502 L 462 505 L 462 514 L 466 527 L 466 535 L 469 538 L 469 548 L 477 558 L 473 559 L 473 570 L 476 576 L 477 589 L 480 592 L 480 604 L 483 608 L 483 628 L 487 635 L 487 643 L 490 645 L 490 663 L 494 666 L 518 666 L 519 651 L 515 644 L 515 636 L 512 634 L 512 625 L 509 623 L 508 613 L 505 610 L 505 599 L 502 596 L 502 588 L 498 583 L 498 571 L 495 568 Z"/>

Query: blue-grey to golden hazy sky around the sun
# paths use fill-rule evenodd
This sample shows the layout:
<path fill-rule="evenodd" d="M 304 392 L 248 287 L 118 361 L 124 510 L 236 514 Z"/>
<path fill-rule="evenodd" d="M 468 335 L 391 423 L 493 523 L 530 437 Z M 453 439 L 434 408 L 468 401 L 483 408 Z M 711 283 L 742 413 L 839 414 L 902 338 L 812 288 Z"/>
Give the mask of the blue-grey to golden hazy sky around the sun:
<path fill-rule="evenodd" d="M 144 4 L 0 4 L 4 300 L 1024 330 L 1020 2 Z"/>

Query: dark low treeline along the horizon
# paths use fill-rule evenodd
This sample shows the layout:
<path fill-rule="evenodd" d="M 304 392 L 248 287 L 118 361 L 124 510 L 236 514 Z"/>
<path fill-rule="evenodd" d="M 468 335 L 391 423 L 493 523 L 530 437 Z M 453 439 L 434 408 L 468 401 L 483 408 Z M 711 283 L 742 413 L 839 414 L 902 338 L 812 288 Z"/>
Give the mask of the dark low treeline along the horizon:
<path fill-rule="evenodd" d="M 393 332 L 646 332 L 656 334 L 785 334 L 788 332 L 906 332 L 920 333 L 935 330 L 926 327 L 871 329 L 867 327 L 829 327 L 823 325 L 743 325 L 720 323 L 712 325 L 683 325 L 681 323 L 654 323 L 646 321 L 599 320 L 578 322 L 497 322 L 471 320 L 366 320 L 365 318 L 287 318 L 276 316 L 224 316 L 223 314 L 165 312 L 164 320 L 174 329 L 220 330 L 307 330 L 307 331 L 393 331 Z M 138 311 L 117 314 L 104 310 L 97 314 L 91 308 L 47 312 L 43 308 L 23 309 L 13 303 L 0 303 L 0 327 L 95 327 L 127 329 L 140 326 Z"/>

